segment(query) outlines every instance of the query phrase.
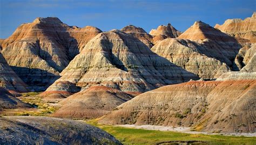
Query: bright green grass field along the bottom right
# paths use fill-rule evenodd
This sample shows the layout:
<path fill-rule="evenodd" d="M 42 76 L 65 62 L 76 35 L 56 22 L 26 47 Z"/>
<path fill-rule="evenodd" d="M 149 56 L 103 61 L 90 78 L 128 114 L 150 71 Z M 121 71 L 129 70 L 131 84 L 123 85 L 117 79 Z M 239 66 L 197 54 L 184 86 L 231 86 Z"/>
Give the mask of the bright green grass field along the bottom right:
<path fill-rule="evenodd" d="M 185 134 L 178 132 L 151 131 L 97 124 L 86 121 L 112 134 L 124 144 L 158 144 L 170 141 L 201 141 L 204 144 L 256 144 L 256 137 Z"/>

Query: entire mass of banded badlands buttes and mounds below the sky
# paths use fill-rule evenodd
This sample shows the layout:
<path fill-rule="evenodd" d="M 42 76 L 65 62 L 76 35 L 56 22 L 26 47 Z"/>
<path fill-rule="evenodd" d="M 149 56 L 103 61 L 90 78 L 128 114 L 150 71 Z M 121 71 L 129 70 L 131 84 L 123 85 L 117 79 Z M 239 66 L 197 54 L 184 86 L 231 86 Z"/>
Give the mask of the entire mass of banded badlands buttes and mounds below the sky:
<path fill-rule="evenodd" d="M 54 17 L 37 18 L 0 40 L 0 109 L 30 107 L 15 96 L 47 88 L 37 97 L 61 100 L 52 117 L 255 133 L 254 20 L 255 13 L 215 28 L 196 21 L 183 33 L 168 24 L 147 34 L 133 25 L 102 32 L 68 26 Z M 0 122 L 17 129 L 25 141 L 34 137 L 65 144 L 62 139 L 68 137 L 74 144 L 119 144 L 82 122 L 40 117 Z M 49 122 L 53 129 L 46 127 Z M 74 128 L 76 133 L 66 134 Z M 6 136 L 0 144 L 19 142 L 8 133 L 0 127 L 0 137 Z M 60 136 L 49 137 L 55 134 Z"/>

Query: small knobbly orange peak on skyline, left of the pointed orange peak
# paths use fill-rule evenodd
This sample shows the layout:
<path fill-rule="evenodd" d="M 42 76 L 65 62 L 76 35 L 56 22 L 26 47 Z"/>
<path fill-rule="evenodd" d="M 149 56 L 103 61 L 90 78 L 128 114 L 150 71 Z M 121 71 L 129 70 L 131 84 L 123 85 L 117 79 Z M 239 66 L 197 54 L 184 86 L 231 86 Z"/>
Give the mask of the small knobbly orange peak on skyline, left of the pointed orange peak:
<path fill-rule="evenodd" d="M 176 30 L 170 23 L 165 25 L 160 25 L 157 29 L 152 29 L 150 35 L 153 36 L 154 44 L 157 44 L 158 41 L 164 40 L 166 38 L 177 38 L 181 32 Z"/>

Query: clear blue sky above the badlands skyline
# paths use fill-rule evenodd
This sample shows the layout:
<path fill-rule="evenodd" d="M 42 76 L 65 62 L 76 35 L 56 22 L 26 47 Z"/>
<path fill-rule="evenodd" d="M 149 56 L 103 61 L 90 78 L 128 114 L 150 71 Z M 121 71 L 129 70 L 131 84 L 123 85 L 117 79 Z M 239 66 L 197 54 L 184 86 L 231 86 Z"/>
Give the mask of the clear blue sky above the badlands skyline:
<path fill-rule="evenodd" d="M 251 17 L 256 0 L 242 1 L 5 1 L 0 0 L 0 38 L 8 38 L 22 23 L 36 17 L 58 17 L 70 26 L 96 26 L 102 31 L 126 25 L 149 32 L 159 25 L 171 23 L 185 31 L 194 21 L 211 26 L 229 18 Z"/>

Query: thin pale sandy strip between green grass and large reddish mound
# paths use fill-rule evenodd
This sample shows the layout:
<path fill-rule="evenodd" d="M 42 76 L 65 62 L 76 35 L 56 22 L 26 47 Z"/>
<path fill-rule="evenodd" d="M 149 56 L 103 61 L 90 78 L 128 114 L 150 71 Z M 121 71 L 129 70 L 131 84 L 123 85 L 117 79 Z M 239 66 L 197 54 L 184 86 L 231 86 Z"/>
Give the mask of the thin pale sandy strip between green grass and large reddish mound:
<path fill-rule="evenodd" d="M 208 134 L 208 135 L 226 135 L 226 136 L 247 136 L 255 137 L 256 133 L 206 133 L 206 132 L 192 132 L 190 127 L 170 127 L 170 126 L 156 126 L 156 125 L 117 125 L 119 127 L 148 129 L 156 131 L 171 131 L 189 134 Z"/>

